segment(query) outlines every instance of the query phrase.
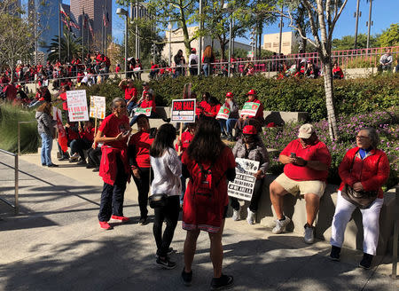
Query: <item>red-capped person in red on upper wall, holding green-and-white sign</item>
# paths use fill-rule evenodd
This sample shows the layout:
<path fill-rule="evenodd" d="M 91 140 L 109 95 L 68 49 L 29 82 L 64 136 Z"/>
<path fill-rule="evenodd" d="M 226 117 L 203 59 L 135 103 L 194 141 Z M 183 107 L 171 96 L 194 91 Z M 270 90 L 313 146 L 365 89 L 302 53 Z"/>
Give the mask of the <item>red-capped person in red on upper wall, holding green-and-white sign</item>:
<path fill-rule="evenodd" d="M 236 123 L 236 138 L 239 137 L 239 132 L 242 131 L 244 126 L 254 125 L 258 131 L 261 131 L 264 123 L 263 105 L 256 97 L 256 91 L 251 89 L 246 95 L 248 96 L 248 100 L 244 104 L 241 117 Z"/>

